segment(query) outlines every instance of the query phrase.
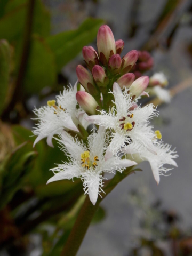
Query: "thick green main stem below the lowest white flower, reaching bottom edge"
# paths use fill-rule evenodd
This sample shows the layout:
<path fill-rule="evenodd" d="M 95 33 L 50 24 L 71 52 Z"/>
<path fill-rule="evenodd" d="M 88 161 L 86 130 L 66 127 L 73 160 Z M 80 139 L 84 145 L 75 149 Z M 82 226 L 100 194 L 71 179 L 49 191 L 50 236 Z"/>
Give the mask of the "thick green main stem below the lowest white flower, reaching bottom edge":
<path fill-rule="evenodd" d="M 81 211 L 78 214 L 77 220 L 71 233 L 68 237 L 67 243 L 61 252 L 61 256 L 75 256 L 79 246 L 81 245 L 83 238 L 86 234 L 91 220 L 97 211 L 99 202 L 93 205 L 87 195 Z"/>

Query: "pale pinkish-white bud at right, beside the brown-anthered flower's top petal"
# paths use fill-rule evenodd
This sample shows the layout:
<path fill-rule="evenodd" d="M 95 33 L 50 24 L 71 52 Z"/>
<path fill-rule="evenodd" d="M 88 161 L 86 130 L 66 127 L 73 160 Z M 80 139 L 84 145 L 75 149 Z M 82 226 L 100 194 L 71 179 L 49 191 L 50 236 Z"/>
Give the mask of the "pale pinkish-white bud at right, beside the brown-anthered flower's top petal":
<path fill-rule="evenodd" d="M 141 93 L 146 90 L 148 84 L 148 76 L 141 76 L 137 80 L 135 80 L 129 88 L 129 93 L 131 94 L 132 100 L 141 95 Z"/>

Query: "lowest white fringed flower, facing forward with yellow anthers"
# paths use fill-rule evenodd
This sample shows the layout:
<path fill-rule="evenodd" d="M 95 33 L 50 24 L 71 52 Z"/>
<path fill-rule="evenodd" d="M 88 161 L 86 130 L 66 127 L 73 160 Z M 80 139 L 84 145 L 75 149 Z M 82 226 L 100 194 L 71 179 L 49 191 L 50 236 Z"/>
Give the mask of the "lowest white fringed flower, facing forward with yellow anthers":
<path fill-rule="evenodd" d="M 59 164 L 51 169 L 54 176 L 47 183 L 80 177 L 83 180 L 85 194 L 89 194 L 93 205 L 97 202 L 98 194 L 102 191 L 103 172 L 114 173 L 115 170 L 122 172 L 126 167 L 137 164 L 128 159 L 119 159 L 117 156 L 105 161 L 103 154 L 105 154 L 108 142 L 105 129 L 101 126 L 97 133 L 93 132 L 88 137 L 87 147 L 82 141 L 77 138 L 74 139 L 65 131 L 62 132 L 58 141 L 68 156 L 69 162 Z"/>

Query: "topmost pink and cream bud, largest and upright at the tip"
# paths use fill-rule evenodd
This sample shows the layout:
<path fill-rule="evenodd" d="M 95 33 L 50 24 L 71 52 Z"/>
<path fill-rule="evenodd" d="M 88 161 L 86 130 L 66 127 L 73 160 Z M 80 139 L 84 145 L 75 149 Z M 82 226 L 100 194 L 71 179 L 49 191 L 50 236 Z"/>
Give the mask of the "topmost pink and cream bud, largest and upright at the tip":
<path fill-rule="evenodd" d="M 116 53 L 114 35 L 111 29 L 107 25 L 102 25 L 99 28 L 98 35 L 97 35 L 97 46 L 98 46 L 100 61 L 102 63 L 106 62 L 106 63 L 103 63 L 103 65 L 107 65 L 109 57 L 114 53 Z"/>

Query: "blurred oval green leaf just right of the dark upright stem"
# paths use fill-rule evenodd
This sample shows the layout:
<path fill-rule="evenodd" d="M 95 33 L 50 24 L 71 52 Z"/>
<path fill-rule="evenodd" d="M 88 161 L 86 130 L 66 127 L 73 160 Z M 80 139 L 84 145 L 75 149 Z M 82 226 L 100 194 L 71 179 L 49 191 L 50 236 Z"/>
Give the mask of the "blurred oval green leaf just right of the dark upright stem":
<path fill-rule="evenodd" d="M 24 85 L 28 93 L 37 93 L 52 86 L 57 78 L 55 60 L 43 38 L 33 37 Z"/>

